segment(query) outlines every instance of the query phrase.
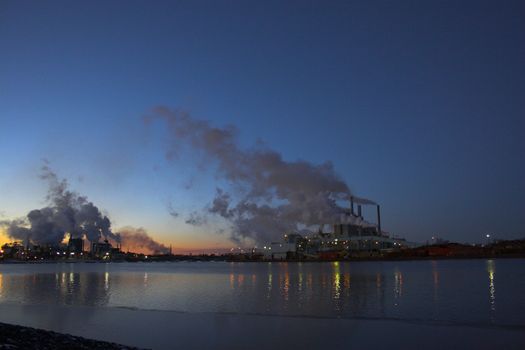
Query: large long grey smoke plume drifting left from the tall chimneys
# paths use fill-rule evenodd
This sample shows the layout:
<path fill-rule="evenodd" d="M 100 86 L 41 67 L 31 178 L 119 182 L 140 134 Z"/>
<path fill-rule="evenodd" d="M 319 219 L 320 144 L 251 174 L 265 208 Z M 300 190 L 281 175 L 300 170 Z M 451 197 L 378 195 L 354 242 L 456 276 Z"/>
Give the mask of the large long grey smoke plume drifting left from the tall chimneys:
<path fill-rule="evenodd" d="M 261 143 L 241 149 L 235 127 L 213 127 L 184 111 L 157 107 L 145 119 L 167 126 L 168 160 L 188 148 L 199 151 L 204 163 L 214 162 L 218 177 L 232 184 L 233 192 L 217 189 L 206 212 L 228 220 L 234 240 L 268 241 L 300 227 L 338 222 L 347 211 L 338 203 L 349 200 L 351 192 L 331 162 L 286 161 Z M 373 203 L 363 198 L 355 202 Z M 192 213 L 186 222 L 200 224 L 196 218 L 200 216 Z"/>

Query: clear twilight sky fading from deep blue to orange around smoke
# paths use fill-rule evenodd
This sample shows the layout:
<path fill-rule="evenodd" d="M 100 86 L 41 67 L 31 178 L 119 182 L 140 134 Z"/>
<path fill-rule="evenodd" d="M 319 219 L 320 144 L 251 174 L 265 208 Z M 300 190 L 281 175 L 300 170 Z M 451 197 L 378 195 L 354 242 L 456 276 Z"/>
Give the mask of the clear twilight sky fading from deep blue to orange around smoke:
<path fill-rule="evenodd" d="M 331 161 L 396 236 L 525 237 L 523 18 L 523 1 L 0 1 L 0 219 L 46 205 L 45 159 L 114 228 L 233 246 L 224 220 L 185 222 L 224 179 L 166 157 L 144 122 L 162 105 Z"/>

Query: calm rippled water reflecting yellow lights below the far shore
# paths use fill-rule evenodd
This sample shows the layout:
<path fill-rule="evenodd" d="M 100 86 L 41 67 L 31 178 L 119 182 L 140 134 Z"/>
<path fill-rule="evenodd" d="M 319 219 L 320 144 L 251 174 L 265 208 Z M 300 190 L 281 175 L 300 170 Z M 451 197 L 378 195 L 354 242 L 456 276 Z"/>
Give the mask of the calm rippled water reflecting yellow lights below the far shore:
<path fill-rule="evenodd" d="M 525 326 L 525 260 L 5 264 L 0 303 Z"/>

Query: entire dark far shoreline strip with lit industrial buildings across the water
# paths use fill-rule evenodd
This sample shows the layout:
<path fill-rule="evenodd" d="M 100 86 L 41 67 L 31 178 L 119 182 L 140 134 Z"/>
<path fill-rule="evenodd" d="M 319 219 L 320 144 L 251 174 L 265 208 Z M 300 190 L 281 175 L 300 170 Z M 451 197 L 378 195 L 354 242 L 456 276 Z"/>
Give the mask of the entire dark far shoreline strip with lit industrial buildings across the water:
<path fill-rule="evenodd" d="M 450 243 L 435 237 L 431 244 L 408 242 L 404 238 L 390 237 L 381 229 L 381 209 L 377 207 L 376 223 L 366 221 L 361 205 L 341 214 L 337 223 L 325 232 L 321 224 L 317 232 L 284 233 L 279 242 L 262 247 L 234 250 L 228 254 L 174 255 L 169 253 L 142 254 L 122 251 L 107 239 L 92 242 L 86 250 L 86 240 L 69 238 L 60 244 L 34 245 L 30 242 L 6 243 L 0 247 L 0 262 L 152 262 L 152 261 L 344 261 L 344 260 L 397 260 L 436 258 L 488 258 L 525 257 L 525 239 L 493 241 L 486 245 Z"/>

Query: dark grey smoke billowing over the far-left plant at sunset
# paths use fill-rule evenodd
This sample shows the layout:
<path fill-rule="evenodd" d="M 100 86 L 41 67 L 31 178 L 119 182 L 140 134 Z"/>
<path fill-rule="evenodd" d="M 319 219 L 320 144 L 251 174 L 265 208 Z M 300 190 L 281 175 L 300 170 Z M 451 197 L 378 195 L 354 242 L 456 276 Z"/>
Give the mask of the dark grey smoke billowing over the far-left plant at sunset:
<path fill-rule="evenodd" d="M 90 242 L 101 239 L 121 242 L 121 234 L 112 231 L 110 219 L 87 197 L 69 190 L 67 180 L 59 179 L 47 162 L 42 167 L 40 178 L 48 183 L 46 201 L 49 205 L 31 210 L 25 218 L 1 221 L 0 225 L 7 228 L 11 238 L 34 244 L 57 245 L 66 234 L 70 234 L 73 238 L 85 236 Z M 141 232 L 141 235 L 131 238 L 143 242 L 144 235 L 145 232 Z M 131 238 L 127 237 L 128 243 Z M 150 238 L 150 241 L 153 240 Z"/>

